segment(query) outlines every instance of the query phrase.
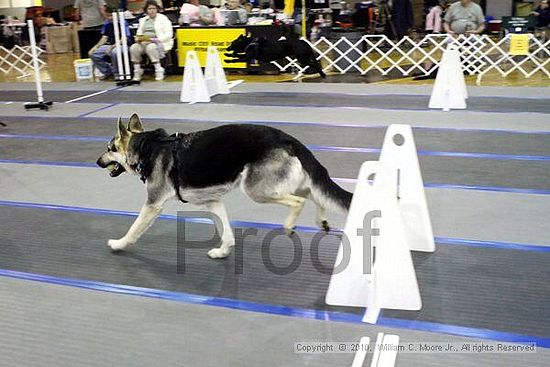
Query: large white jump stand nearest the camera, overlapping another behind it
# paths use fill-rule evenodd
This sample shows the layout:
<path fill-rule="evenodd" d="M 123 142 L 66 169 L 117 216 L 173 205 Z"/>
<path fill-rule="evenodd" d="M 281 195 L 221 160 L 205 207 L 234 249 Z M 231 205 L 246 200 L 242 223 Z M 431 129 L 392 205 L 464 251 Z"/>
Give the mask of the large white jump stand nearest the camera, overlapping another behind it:
<path fill-rule="evenodd" d="M 382 308 L 422 308 L 396 194 L 395 168 L 363 163 L 326 295 L 330 305 L 366 307 L 363 321 L 368 323 L 376 323 Z M 378 233 L 372 231 L 373 220 Z"/>

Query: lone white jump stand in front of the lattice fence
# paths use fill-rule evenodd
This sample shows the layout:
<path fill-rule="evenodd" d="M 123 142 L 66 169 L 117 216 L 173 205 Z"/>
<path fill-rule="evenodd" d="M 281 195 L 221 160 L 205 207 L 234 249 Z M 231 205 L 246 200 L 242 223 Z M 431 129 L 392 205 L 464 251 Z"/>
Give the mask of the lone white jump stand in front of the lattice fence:
<path fill-rule="evenodd" d="M 467 98 L 468 91 L 462 73 L 460 53 L 456 45 L 450 44 L 443 52 L 429 107 L 443 109 L 443 111 L 463 110 L 466 108 Z"/>

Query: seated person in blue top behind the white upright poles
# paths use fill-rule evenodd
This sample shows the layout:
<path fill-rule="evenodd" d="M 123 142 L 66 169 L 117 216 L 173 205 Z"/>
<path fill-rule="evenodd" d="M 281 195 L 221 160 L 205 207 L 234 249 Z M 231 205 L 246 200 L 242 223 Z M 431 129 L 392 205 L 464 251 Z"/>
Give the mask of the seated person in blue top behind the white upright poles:
<path fill-rule="evenodd" d="M 96 76 L 103 80 L 110 75 L 114 75 L 115 78 L 118 74 L 118 64 L 115 47 L 115 30 L 113 27 L 112 12 L 115 9 L 107 7 L 105 9 L 105 16 L 107 19 L 103 23 L 101 28 L 101 38 L 95 44 L 94 47 L 88 51 L 88 55 L 92 59 L 94 68 L 96 70 Z M 128 46 L 132 43 L 130 35 L 130 27 L 128 22 L 125 22 L 125 33 Z"/>

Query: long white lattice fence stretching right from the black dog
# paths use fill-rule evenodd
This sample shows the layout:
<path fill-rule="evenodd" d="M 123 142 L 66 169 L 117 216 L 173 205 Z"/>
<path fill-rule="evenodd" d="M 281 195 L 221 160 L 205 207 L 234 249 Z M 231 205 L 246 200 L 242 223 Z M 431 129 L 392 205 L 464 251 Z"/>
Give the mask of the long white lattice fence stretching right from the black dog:
<path fill-rule="evenodd" d="M 537 72 L 550 77 L 550 40 L 541 41 L 530 35 L 529 55 L 518 57 L 508 53 L 510 38 L 511 35 L 507 35 L 495 42 L 487 35 L 458 38 L 427 35 L 420 40 L 404 37 L 399 41 L 392 41 L 384 35 L 365 35 L 353 41 L 344 37 L 332 41 L 321 37 L 314 43 L 306 39 L 304 41 L 318 53 L 317 59 L 323 65 L 324 71 L 341 74 L 359 72 L 364 75 L 373 70 L 382 75 L 392 71 L 398 71 L 403 76 L 413 72 L 428 74 L 438 66 L 447 45 L 454 43 L 458 45 L 463 70 L 470 75 L 478 75 L 478 82 L 490 70 L 496 70 L 502 76 L 518 71 L 526 78 Z M 297 70 L 296 78 L 307 70 L 307 67 L 300 66 L 289 57 L 285 62 L 274 64 L 283 72 Z"/>

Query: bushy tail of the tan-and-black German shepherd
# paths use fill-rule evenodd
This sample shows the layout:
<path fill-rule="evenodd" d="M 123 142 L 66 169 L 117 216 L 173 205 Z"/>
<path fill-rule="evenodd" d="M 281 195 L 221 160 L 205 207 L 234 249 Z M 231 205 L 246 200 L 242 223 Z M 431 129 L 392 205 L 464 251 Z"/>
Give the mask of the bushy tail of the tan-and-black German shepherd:
<path fill-rule="evenodd" d="M 304 171 L 311 179 L 313 201 L 324 208 L 337 207 L 347 213 L 353 194 L 338 186 L 330 178 L 327 169 L 319 163 L 309 149 L 301 144 L 295 149 Z"/>

